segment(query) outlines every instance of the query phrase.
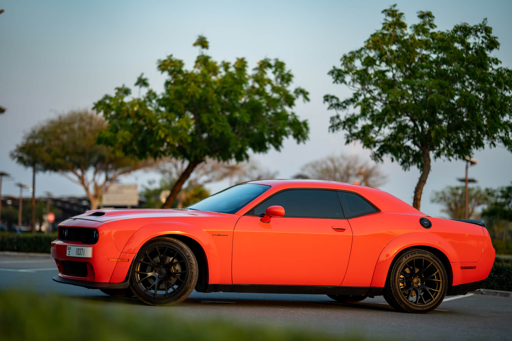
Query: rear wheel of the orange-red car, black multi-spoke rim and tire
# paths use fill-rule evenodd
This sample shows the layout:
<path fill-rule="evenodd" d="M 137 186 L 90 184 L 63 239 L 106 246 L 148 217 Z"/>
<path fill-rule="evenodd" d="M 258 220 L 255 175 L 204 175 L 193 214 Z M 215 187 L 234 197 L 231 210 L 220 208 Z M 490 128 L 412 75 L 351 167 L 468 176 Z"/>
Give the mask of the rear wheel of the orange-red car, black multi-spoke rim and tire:
<path fill-rule="evenodd" d="M 383 295 L 396 310 L 421 314 L 436 309 L 447 288 L 448 275 L 436 255 L 413 249 L 393 263 Z"/>

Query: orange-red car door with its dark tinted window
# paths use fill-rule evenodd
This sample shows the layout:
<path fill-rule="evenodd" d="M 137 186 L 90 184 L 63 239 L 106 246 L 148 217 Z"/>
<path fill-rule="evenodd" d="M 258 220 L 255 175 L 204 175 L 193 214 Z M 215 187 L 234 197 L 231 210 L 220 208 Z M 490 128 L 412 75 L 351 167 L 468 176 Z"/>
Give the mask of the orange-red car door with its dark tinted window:
<path fill-rule="evenodd" d="M 284 217 L 260 221 L 280 205 Z M 288 189 L 241 217 L 233 232 L 233 284 L 339 286 L 350 255 L 352 230 L 336 191 Z"/>

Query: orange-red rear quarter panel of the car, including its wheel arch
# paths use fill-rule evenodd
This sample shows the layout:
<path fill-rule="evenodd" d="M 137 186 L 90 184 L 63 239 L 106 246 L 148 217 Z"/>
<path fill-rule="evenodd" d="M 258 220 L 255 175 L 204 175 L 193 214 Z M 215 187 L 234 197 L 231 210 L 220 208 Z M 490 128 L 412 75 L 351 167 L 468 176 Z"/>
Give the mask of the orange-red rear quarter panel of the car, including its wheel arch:
<path fill-rule="evenodd" d="M 409 247 L 429 246 L 443 252 L 450 263 L 478 262 L 484 234 L 482 227 L 426 217 L 425 229 L 418 214 L 379 212 L 349 219 L 353 231 L 352 251 L 343 286 L 383 287 L 396 255 Z"/>

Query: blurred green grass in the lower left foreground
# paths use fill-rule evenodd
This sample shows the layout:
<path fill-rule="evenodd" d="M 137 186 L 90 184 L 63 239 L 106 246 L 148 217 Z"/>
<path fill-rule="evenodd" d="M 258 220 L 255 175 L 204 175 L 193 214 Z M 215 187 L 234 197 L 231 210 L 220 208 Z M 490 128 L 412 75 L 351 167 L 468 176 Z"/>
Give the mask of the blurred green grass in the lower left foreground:
<path fill-rule="evenodd" d="M 154 338 L 172 340 L 335 340 L 334 337 L 293 329 L 246 326 L 225 321 L 186 321 L 179 306 L 155 307 L 134 313 L 111 306 L 101 309 L 66 297 L 0 292 L 2 340 L 130 341 Z M 169 311 L 174 312 L 169 313 Z M 344 339 L 354 339 L 347 337 Z"/>

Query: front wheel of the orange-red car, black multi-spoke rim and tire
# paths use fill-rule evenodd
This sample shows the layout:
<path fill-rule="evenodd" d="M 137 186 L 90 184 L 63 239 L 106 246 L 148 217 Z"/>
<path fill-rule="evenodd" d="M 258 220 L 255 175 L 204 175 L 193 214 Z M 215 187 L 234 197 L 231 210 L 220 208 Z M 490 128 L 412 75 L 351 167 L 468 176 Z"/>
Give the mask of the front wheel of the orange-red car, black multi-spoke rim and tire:
<path fill-rule="evenodd" d="M 196 257 L 185 243 L 159 237 L 146 243 L 137 253 L 130 288 L 144 303 L 168 306 L 190 295 L 198 274 Z"/>

